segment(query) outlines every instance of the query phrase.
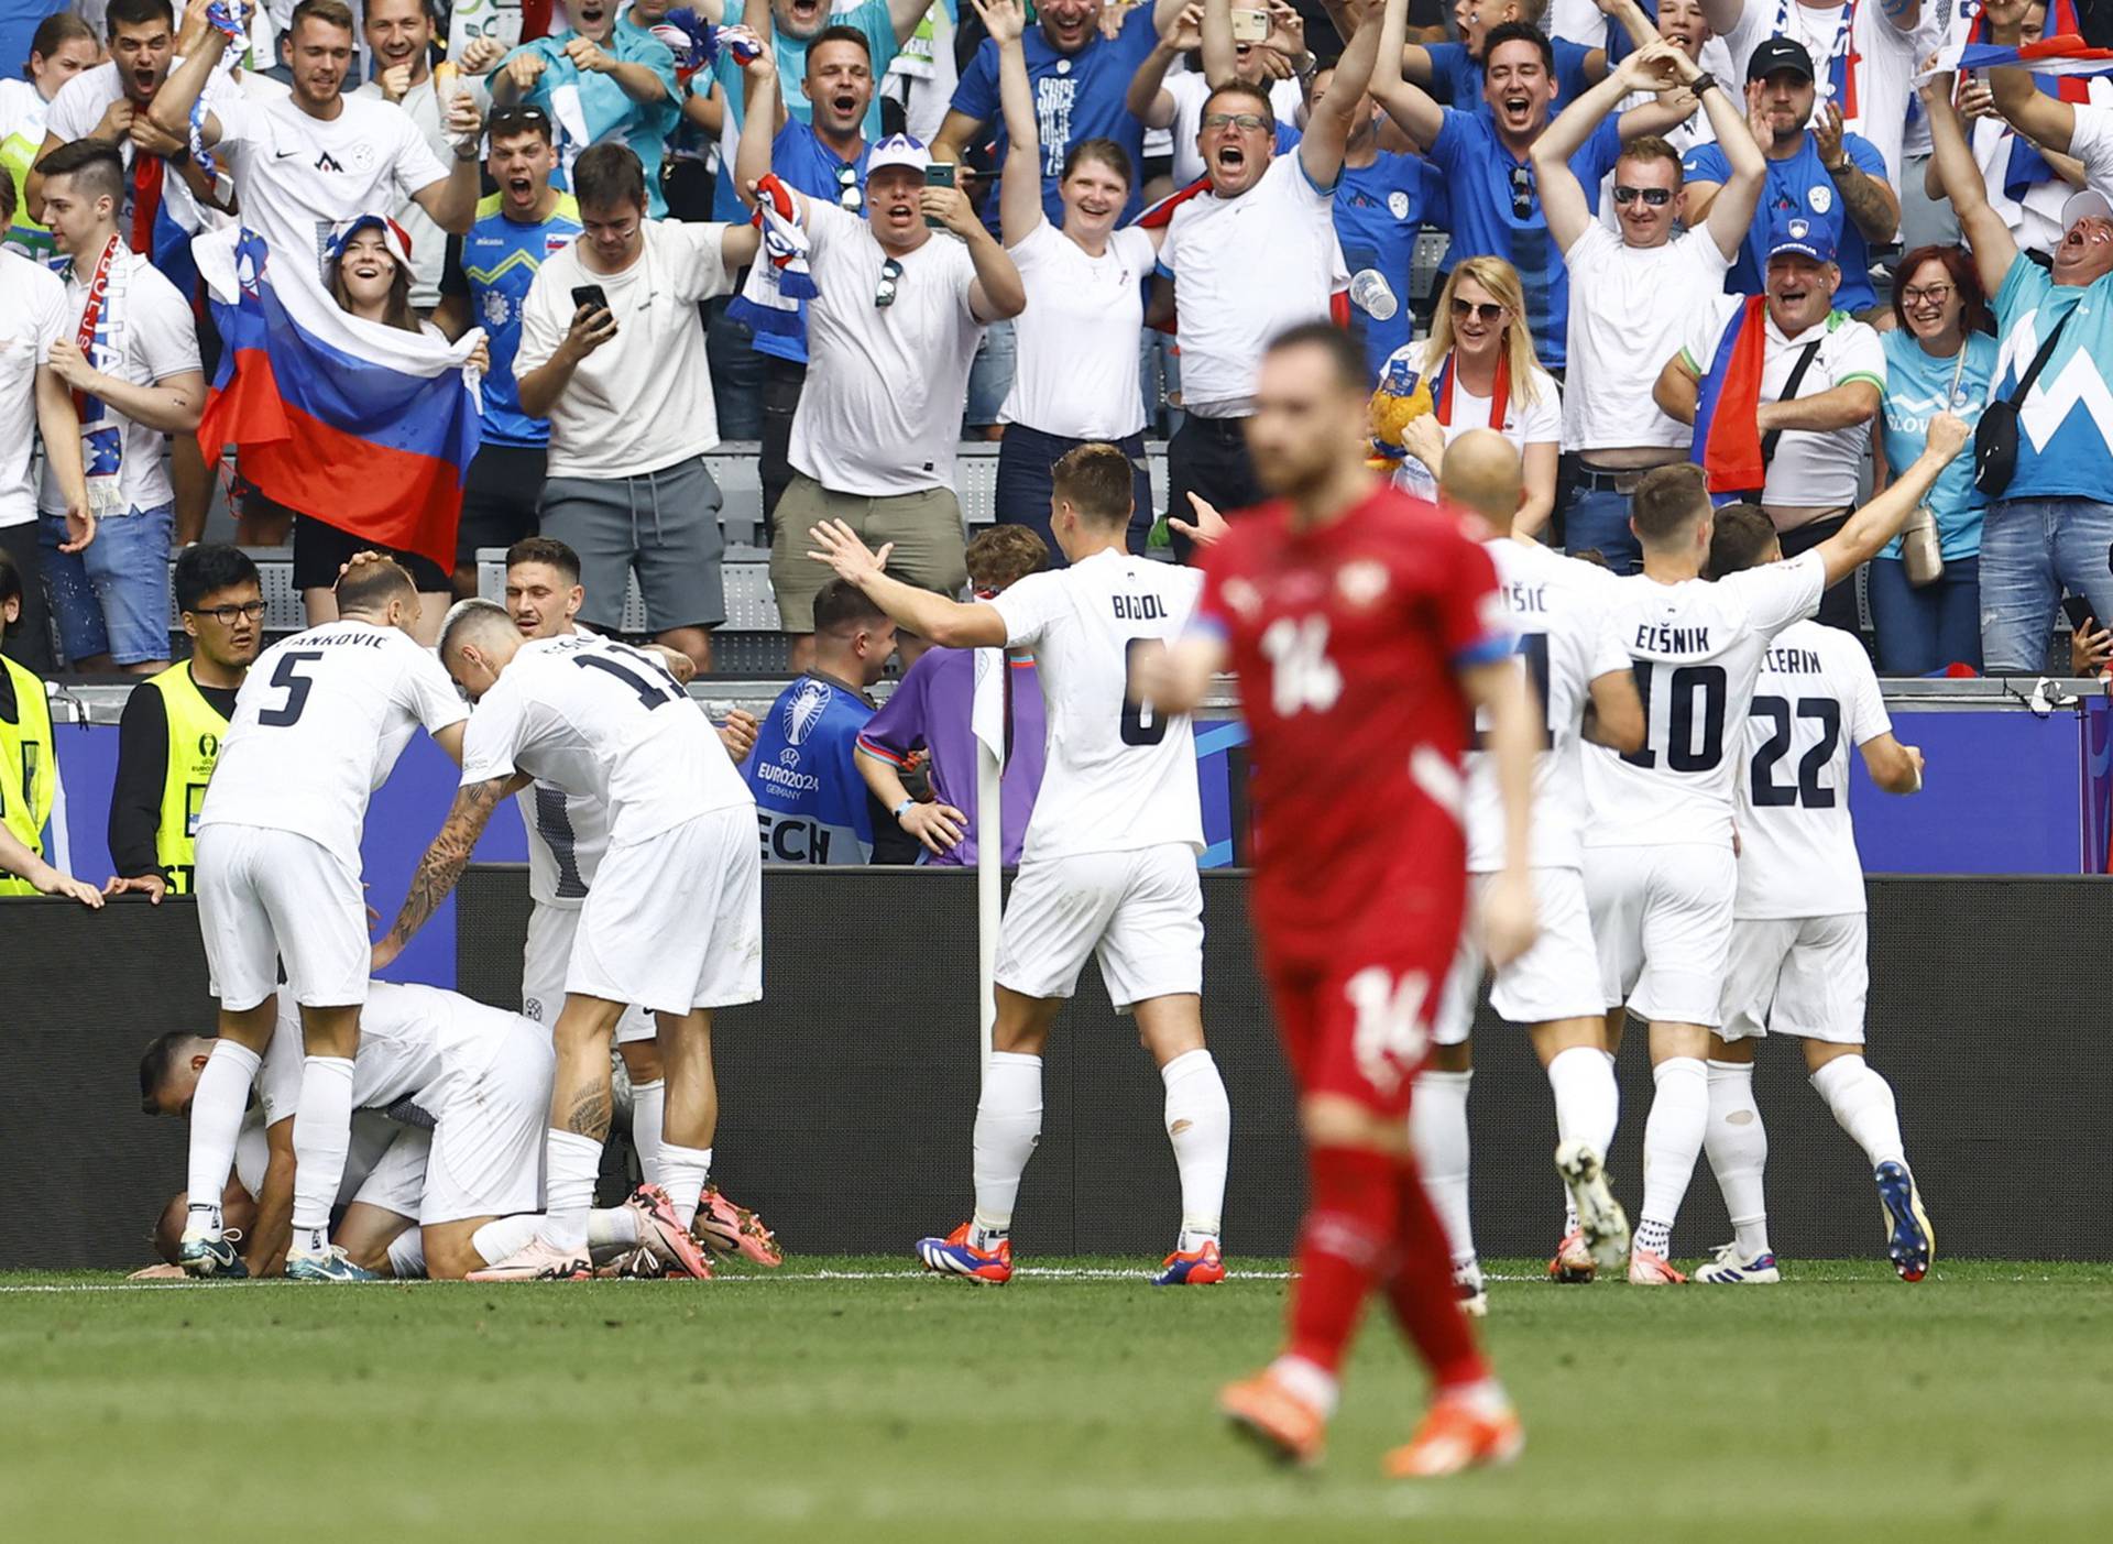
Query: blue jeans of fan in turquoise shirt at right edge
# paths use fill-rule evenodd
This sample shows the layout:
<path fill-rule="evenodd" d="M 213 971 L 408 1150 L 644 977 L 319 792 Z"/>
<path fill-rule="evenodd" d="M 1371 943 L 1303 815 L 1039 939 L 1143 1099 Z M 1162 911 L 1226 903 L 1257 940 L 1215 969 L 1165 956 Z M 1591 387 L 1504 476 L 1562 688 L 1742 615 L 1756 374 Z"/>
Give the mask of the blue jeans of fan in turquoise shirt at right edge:
<path fill-rule="evenodd" d="M 2113 617 L 2113 505 L 2096 498 L 2003 498 L 1982 524 L 1982 659 L 1990 676 L 2047 667 L 2062 587 Z"/>

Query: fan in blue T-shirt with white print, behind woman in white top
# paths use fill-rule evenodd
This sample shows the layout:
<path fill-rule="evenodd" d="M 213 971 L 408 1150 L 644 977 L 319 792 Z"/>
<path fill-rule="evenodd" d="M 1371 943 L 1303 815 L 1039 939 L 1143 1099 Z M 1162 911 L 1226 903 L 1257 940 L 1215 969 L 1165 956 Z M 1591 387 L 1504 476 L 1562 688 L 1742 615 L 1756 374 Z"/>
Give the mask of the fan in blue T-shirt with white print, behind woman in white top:
<path fill-rule="evenodd" d="M 1122 19 L 1114 38 L 1101 36 L 1101 0 L 1044 0 L 1035 27 L 1027 34 L 1027 84 L 1035 99 L 1035 127 L 1042 133 L 1042 209 L 1052 226 L 1063 224 L 1063 201 L 1056 184 L 1063 161 L 1082 139 L 1114 139 L 1130 156 L 1133 167 L 1145 161 L 1145 125 L 1128 110 L 1130 80 L 1158 42 L 1160 27 L 1171 27 L 1190 0 L 1154 0 Z M 953 106 L 932 142 L 934 161 L 966 161 L 972 148 L 985 144 L 985 127 L 995 129 L 991 144 L 1002 165 L 1006 131 L 997 110 L 997 44 L 989 38 L 961 72 Z M 1122 220 L 1137 218 L 1141 199 L 1130 188 Z M 997 180 L 983 201 L 983 222 L 997 230 Z"/>

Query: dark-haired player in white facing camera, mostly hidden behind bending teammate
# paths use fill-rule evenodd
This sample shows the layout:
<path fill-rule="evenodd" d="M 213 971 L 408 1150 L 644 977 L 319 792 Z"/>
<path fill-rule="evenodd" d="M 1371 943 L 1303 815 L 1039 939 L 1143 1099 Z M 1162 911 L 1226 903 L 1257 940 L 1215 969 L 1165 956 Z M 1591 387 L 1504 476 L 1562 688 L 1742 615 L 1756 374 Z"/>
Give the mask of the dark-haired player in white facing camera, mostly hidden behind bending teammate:
<path fill-rule="evenodd" d="M 551 536 L 526 536 L 507 549 L 507 615 L 522 638 L 568 638 L 587 591 L 579 585 L 579 553 Z M 644 644 L 687 684 L 695 661 L 678 648 Z M 718 741 L 740 762 L 754 750 L 756 720 L 735 708 L 718 729 Z M 609 807 L 598 798 L 568 794 L 556 784 L 535 782 L 513 801 L 528 834 L 528 940 L 522 948 L 522 1012 L 547 1024 L 564 1005 L 564 972 L 573 959 L 579 908 L 609 851 Z M 617 1054 L 632 1086 L 632 1147 L 649 1185 L 661 1183 L 659 1147 L 668 1107 L 653 1014 L 636 1003 L 617 1020 Z M 784 1255 L 771 1229 L 748 1210 L 704 1187 L 695 1227 L 723 1255 L 742 1253 L 761 1265 L 780 1265 Z"/>

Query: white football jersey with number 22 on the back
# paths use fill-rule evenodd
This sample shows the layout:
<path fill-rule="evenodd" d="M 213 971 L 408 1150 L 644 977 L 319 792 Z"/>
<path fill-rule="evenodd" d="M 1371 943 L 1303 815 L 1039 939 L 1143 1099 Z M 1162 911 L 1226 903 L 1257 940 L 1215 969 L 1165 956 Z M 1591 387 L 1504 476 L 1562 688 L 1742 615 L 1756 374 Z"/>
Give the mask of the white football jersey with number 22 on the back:
<path fill-rule="evenodd" d="M 1739 771 L 1735 917 L 1862 912 L 1849 752 L 1893 731 L 1864 644 L 1800 621 L 1760 659 Z"/>

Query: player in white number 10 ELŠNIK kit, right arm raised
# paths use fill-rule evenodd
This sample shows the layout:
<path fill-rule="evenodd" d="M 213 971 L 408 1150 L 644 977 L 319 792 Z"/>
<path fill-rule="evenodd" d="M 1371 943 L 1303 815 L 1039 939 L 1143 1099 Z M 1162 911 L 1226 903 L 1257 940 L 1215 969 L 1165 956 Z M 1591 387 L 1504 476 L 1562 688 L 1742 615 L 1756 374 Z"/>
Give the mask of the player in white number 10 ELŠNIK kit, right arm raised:
<path fill-rule="evenodd" d="M 1737 891 L 1733 782 L 1760 659 L 1777 634 L 1813 615 L 1828 585 L 1891 541 L 1965 441 L 1963 422 L 1931 418 L 1921 458 L 1838 532 L 1790 562 L 1716 583 L 1701 579 L 1714 524 L 1701 467 L 1659 467 L 1638 484 L 1629 526 L 1644 572 L 1610 587 L 1608 613 L 1635 663 L 1644 746 L 1585 756 L 1585 898 L 1608 1043 L 1619 1048 L 1623 1008 L 1650 1027 L 1654 1094 L 1631 1284 L 1686 1280 L 1667 1253 L 1709 1119 L 1705 1058 Z"/>

